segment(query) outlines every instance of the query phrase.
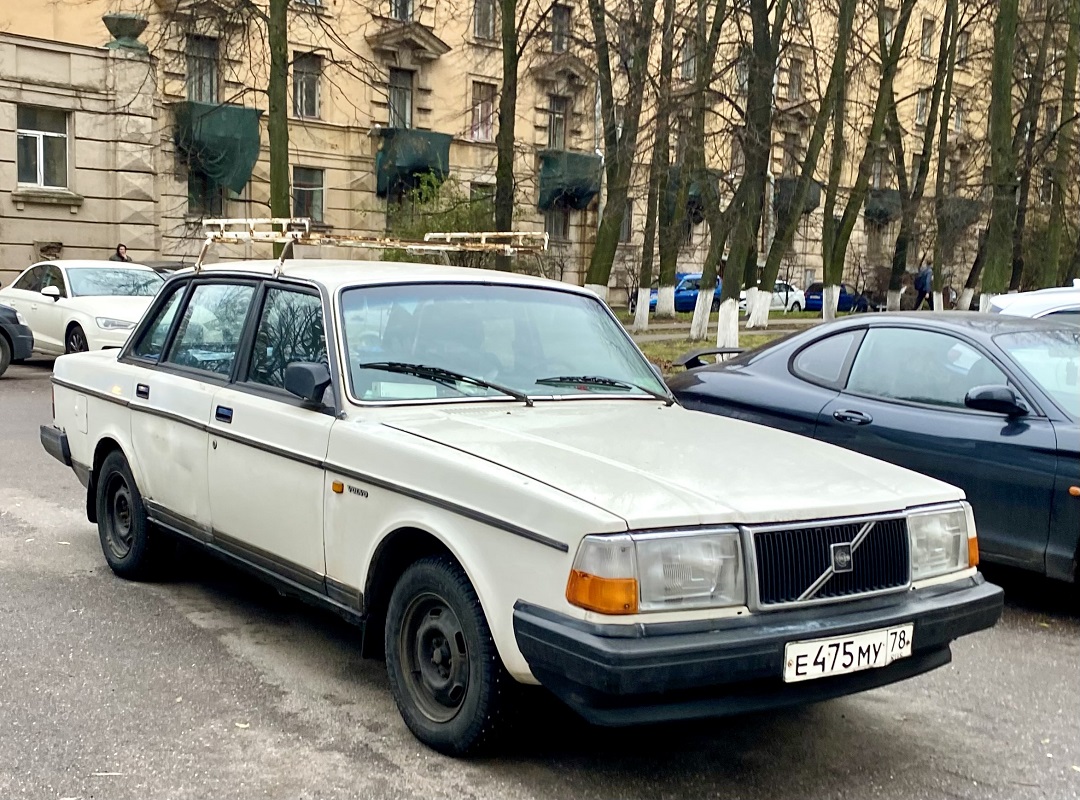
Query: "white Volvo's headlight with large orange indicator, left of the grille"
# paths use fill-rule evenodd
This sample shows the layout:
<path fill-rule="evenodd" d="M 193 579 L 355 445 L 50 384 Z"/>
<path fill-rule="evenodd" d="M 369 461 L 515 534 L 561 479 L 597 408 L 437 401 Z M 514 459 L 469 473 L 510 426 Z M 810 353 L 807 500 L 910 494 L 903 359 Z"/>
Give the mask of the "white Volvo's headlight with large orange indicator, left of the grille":
<path fill-rule="evenodd" d="M 566 598 L 605 614 L 742 606 L 742 543 L 733 531 L 585 537 Z"/>

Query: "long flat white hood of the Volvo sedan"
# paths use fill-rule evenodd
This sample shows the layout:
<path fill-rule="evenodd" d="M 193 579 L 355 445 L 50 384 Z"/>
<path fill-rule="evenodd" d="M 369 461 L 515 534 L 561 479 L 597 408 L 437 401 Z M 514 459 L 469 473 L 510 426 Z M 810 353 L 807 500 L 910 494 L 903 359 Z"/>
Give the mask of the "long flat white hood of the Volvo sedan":
<path fill-rule="evenodd" d="M 651 401 L 459 406 L 383 423 L 548 484 L 632 529 L 820 519 L 963 497 L 839 447 Z"/>

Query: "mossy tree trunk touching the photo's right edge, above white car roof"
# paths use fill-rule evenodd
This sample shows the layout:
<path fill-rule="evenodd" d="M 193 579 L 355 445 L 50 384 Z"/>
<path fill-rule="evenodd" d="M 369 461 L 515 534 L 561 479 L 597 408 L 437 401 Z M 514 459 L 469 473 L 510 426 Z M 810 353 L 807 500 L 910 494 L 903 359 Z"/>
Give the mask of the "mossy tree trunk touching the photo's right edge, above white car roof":
<path fill-rule="evenodd" d="M 1050 209 L 1047 258 L 1039 270 L 1039 286 L 1053 286 L 1058 279 L 1065 281 L 1068 262 L 1063 253 L 1065 241 L 1065 190 L 1069 180 L 1069 158 L 1075 147 L 1072 132 L 1077 124 L 1077 67 L 1080 60 L 1080 0 L 1065 0 L 1068 4 L 1068 44 L 1065 48 L 1065 78 L 1062 83 L 1062 126 L 1055 143 L 1056 155 L 1051 167 L 1054 186 L 1053 205 Z"/>

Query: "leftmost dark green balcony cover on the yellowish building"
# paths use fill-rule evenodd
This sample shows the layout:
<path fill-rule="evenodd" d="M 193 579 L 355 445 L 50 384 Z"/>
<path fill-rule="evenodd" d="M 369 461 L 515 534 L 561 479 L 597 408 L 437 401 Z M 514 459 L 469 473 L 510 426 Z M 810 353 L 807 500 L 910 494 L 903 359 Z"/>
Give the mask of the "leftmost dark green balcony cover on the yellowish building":
<path fill-rule="evenodd" d="M 176 149 L 192 170 L 217 186 L 242 192 L 259 158 L 261 111 L 185 100 L 174 107 Z"/>

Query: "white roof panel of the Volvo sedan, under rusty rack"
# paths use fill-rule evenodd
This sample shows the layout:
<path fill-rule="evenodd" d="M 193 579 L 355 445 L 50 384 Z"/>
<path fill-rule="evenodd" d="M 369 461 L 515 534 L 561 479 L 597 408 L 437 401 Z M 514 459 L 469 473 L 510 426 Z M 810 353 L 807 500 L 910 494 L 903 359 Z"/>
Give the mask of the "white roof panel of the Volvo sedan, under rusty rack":
<path fill-rule="evenodd" d="M 281 276 L 321 284 L 329 291 L 353 286 L 377 286 L 401 283 L 475 283 L 505 286 L 556 288 L 589 297 L 596 295 L 580 286 L 536 277 L 516 272 L 482 270 L 467 267 L 415 263 L 408 261 L 353 261 L 334 259 L 289 259 L 284 267 L 273 259 L 256 261 L 217 261 L 204 263 L 201 274 L 247 274 L 272 276 L 281 267 Z M 189 275 L 192 269 L 178 270 L 174 275 Z"/>

